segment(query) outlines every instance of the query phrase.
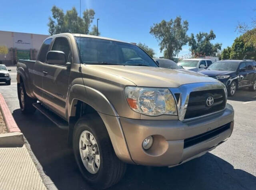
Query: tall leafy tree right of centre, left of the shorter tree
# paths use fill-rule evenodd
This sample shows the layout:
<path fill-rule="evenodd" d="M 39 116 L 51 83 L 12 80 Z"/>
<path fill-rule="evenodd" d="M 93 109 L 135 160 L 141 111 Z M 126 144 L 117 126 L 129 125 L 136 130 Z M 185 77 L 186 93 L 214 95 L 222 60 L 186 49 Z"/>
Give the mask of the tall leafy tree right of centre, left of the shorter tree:
<path fill-rule="evenodd" d="M 188 42 L 187 31 L 188 21 L 182 22 L 181 17 L 170 21 L 162 20 L 150 27 L 150 34 L 157 39 L 160 51 L 164 51 L 164 57 L 167 59 L 177 55 Z"/>

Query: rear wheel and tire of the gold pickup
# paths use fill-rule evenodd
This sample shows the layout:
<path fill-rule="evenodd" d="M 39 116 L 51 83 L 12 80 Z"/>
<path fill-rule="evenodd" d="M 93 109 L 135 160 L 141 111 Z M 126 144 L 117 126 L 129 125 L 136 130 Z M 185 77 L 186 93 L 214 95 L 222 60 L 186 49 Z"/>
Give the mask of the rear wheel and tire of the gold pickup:
<path fill-rule="evenodd" d="M 24 84 L 18 85 L 18 99 L 20 103 L 20 110 L 22 113 L 31 114 L 36 111 L 36 108 L 32 105 L 36 103 L 36 99 L 30 98 L 25 90 Z"/>

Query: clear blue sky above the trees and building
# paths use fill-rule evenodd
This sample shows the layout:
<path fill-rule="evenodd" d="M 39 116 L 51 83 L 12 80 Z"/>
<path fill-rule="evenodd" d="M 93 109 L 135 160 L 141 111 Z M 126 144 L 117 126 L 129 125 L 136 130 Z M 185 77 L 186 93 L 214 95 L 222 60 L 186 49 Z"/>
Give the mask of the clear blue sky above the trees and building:
<path fill-rule="evenodd" d="M 149 34 L 153 23 L 181 16 L 188 20 L 188 35 L 198 32 L 216 34 L 214 43 L 222 48 L 231 46 L 239 36 L 238 22 L 250 23 L 256 16 L 255 0 L 81 0 L 82 10 L 92 8 L 99 20 L 101 36 L 126 42 L 142 42 L 161 56 L 158 42 Z M 48 17 L 53 5 L 65 12 L 75 6 L 79 12 L 79 0 L 1 0 L 0 30 L 48 34 Z M 93 24 L 96 24 L 96 19 Z M 188 54 L 184 46 L 180 55 Z"/>

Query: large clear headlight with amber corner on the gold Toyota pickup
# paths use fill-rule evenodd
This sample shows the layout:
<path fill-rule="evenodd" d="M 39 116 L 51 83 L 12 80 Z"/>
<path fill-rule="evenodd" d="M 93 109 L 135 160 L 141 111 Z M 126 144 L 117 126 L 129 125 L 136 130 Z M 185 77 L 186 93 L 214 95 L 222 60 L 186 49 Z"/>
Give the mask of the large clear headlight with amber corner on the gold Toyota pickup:
<path fill-rule="evenodd" d="M 169 89 L 126 87 L 125 96 L 130 107 L 145 115 L 177 115 L 176 103 Z"/>

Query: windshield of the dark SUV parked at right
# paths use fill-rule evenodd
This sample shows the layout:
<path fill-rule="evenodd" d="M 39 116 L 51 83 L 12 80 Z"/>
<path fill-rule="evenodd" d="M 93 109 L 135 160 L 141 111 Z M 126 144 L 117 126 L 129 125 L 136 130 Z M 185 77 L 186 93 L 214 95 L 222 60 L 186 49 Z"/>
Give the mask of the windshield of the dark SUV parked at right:
<path fill-rule="evenodd" d="M 239 62 L 234 61 L 217 61 L 208 67 L 208 70 L 219 71 L 236 71 Z"/>

